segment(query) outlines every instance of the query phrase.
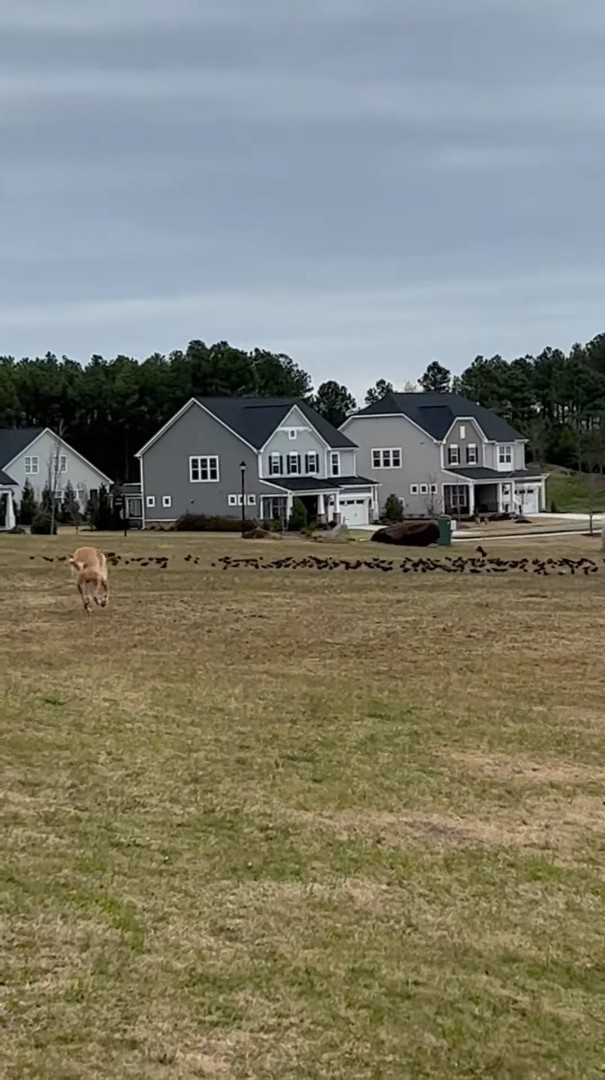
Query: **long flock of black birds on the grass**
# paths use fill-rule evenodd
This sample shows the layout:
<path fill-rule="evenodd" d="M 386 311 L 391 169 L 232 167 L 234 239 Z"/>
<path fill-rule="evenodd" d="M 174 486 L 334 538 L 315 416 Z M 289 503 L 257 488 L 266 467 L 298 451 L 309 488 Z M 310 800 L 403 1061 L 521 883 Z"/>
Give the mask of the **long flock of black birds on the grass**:
<path fill-rule="evenodd" d="M 30 555 L 30 558 L 37 558 Z M 46 563 L 65 563 L 68 555 L 42 555 Z M 165 570 L 170 557 L 167 555 L 118 555 L 117 552 L 107 552 L 109 566 L 140 566 L 156 567 Z M 197 566 L 200 562 L 199 555 L 185 555 L 185 563 Z M 446 555 L 443 558 L 430 558 L 419 556 L 414 558 L 406 556 L 401 561 L 388 558 L 333 558 L 319 555 L 306 555 L 304 558 L 295 558 L 293 555 L 285 555 L 282 558 L 274 558 L 266 562 L 263 555 L 251 555 L 244 558 L 233 558 L 231 555 L 223 555 L 215 563 L 214 568 L 221 570 L 376 570 L 381 573 L 536 573 L 547 578 L 551 573 L 576 575 L 597 573 L 599 566 L 592 558 L 500 558 L 497 555 L 488 555 L 479 545 L 475 548 L 475 555 L 465 558 L 462 555 Z"/>

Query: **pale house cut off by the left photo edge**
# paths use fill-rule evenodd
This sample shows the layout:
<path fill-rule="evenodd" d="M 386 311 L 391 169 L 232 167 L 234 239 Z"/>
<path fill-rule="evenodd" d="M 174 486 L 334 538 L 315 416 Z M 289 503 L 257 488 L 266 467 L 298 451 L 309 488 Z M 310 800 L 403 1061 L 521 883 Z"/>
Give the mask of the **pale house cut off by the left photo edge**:
<path fill-rule="evenodd" d="M 0 428 L 0 529 L 13 528 L 26 481 L 38 499 L 46 485 L 60 497 L 70 483 L 82 510 L 91 491 L 111 484 L 50 428 Z"/>

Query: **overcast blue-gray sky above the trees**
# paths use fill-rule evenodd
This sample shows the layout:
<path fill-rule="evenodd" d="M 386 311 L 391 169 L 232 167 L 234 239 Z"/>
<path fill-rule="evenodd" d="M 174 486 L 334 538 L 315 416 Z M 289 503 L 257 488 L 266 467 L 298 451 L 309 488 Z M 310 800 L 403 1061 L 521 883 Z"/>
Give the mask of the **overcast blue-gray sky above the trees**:
<path fill-rule="evenodd" d="M 0 0 L 0 353 L 605 330 L 603 0 Z"/>

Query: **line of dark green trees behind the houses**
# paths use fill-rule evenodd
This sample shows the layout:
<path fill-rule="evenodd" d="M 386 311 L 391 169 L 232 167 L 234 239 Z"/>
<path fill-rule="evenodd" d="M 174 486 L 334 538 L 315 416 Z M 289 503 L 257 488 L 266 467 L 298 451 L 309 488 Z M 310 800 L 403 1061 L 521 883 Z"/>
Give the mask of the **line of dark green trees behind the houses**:
<path fill-rule="evenodd" d="M 375 357 L 369 357 L 374 366 Z M 475 356 L 460 374 L 433 362 L 417 383 L 378 379 L 364 403 L 389 391 L 453 390 L 509 420 L 529 440 L 529 460 L 604 471 L 605 335 L 569 352 L 547 348 L 512 361 Z M 338 426 L 358 407 L 346 386 L 311 377 L 290 356 L 226 341 L 190 341 L 144 361 L 53 353 L 0 356 L 0 426 L 49 427 L 118 482 L 138 478 L 133 455 L 192 396 L 304 397 Z M 361 403 L 361 404 L 364 404 Z"/>

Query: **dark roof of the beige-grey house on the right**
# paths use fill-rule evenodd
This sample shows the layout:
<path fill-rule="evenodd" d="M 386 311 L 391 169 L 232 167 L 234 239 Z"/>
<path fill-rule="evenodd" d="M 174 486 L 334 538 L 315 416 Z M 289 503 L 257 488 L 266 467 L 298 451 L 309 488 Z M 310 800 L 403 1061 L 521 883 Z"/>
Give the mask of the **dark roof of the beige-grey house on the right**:
<path fill-rule="evenodd" d="M 472 419 L 476 420 L 483 434 L 490 442 L 506 443 L 523 438 L 517 431 L 502 420 L 492 409 L 471 402 L 461 394 L 438 394 L 438 393 L 391 393 L 381 397 L 379 402 L 374 402 L 367 408 L 361 409 L 354 416 L 386 416 L 401 413 L 416 423 L 422 431 L 431 435 L 438 442 L 445 438 L 455 420 Z M 354 417 L 351 417 L 354 419 Z"/>

